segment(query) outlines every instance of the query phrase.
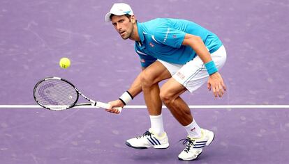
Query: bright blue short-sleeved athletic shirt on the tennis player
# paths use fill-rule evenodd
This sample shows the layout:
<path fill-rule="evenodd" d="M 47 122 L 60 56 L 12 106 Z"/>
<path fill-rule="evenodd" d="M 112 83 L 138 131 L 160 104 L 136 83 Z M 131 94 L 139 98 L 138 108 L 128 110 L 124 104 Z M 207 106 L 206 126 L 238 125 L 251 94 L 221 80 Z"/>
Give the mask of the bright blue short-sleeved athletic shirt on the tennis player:
<path fill-rule="evenodd" d="M 191 47 L 181 45 L 186 33 L 200 36 L 211 54 L 222 46 L 214 33 L 184 19 L 157 18 L 137 26 L 140 42 L 135 42 L 135 51 L 142 67 L 151 65 L 156 59 L 184 65 L 195 58 L 197 54 Z"/>

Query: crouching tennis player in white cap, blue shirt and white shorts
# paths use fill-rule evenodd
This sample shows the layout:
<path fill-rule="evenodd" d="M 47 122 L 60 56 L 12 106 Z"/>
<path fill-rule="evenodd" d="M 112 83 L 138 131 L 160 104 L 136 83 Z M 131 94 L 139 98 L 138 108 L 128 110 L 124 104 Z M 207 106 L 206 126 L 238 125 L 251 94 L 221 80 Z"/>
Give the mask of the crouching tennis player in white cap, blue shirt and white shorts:
<path fill-rule="evenodd" d="M 105 15 L 122 39 L 135 41 L 142 72 L 119 99 L 110 101 L 110 113 L 119 113 L 113 107 L 123 107 L 140 92 L 149 111 L 151 128 L 142 136 L 126 140 L 135 149 L 166 149 L 168 136 L 163 128 L 161 106 L 165 104 L 188 136 L 179 160 L 191 161 L 202 153 L 203 147 L 214 140 L 214 133 L 201 129 L 191 110 L 180 95 L 194 92 L 207 82 L 214 97 L 222 97 L 225 84 L 218 69 L 225 63 L 226 51 L 219 38 L 206 28 L 184 19 L 152 19 L 137 22 L 133 10 L 126 3 L 114 3 Z M 168 79 L 160 88 L 158 83 Z"/>

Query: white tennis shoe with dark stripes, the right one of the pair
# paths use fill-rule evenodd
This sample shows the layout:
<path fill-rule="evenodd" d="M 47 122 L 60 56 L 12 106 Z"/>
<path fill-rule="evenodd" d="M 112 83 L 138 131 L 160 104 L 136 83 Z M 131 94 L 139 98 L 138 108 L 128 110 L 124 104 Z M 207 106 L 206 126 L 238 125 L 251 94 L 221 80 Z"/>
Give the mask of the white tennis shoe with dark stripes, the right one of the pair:
<path fill-rule="evenodd" d="M 202 148 L 211 144 L 214 140 L 214 133 L 206 129 L 202 129 L 201 138 L 186 138 L 183 144 L 186 144 L 186 148 L 179 154 L 179 160 L 191 161 L 195 160 L 202 154 Z"/>

